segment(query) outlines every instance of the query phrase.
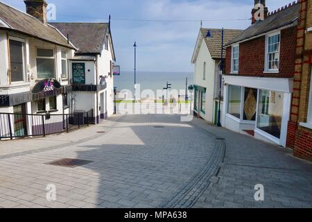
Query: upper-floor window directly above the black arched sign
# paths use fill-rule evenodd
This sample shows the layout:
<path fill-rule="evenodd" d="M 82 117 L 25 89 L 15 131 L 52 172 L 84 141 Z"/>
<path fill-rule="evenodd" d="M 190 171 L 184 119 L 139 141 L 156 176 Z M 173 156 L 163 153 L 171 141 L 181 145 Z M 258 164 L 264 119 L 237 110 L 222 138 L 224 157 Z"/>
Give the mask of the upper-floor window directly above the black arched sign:
<path fill-rule="evenodd" d="M 37 49 L 37 78 L 55 77 L 55 56 L 53 49 Z"/>

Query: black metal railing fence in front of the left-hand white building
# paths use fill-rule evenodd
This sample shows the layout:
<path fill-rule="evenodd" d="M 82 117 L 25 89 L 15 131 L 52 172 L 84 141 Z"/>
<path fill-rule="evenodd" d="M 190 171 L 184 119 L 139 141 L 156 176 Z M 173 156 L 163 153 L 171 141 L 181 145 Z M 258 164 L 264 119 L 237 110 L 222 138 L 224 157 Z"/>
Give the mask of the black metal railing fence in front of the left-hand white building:
<path fill-rule="evenodd" d="M 0 139 L 38 137 L 71 130 L 92 124 L 91 112 L 73 114 L 15 114 L 0 113 Z"/>

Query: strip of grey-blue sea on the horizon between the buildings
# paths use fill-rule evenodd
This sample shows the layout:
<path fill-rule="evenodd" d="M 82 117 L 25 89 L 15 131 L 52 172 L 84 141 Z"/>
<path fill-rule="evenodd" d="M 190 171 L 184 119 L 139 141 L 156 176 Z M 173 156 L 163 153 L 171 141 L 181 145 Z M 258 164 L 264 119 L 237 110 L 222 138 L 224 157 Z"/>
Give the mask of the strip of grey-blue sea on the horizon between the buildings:
<path fill-rule="evenodd" d="M 171 84 L 172 89 L 185 90 L 186 82 L 188 85 L 193 85 L 192 72 L 168 72 L 168 71 L 137 71 L 137 84 L 140 84 L 141 92 L 144 89 L 151 89 L 157 92 L 158 89 L 163 89 L 166 84 Z M 135 72 L 121 71 L 120 76 L 114 76 L 114 86 L 117 91 L 128 89 L 133 92 L 135 87 Z"/>

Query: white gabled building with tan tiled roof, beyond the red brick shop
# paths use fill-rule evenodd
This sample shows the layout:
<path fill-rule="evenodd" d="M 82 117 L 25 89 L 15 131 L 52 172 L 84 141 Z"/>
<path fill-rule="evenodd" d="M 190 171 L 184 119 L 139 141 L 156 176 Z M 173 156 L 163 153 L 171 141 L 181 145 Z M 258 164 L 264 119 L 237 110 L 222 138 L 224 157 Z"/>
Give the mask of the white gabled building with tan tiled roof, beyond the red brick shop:
<path fill-rule="evenodd" d="M 211 36 L 207 37 L 210 31 Z M 239 35 L 241 31 L 225 29 L 224 44 Z M 198 117 L 209 121 L 218 122 L 218 103 L 220 89 L 220 60 L 222 45 L 222 30 L 200 28 L 196 47 L 191 63 L 194 65 L 194 111 Z M 223 54 L 225 59 L 225 53 Z M 221 105 L 223 107 L 223 92 Z M 222 120 L 221 120 L 222 121 Z"/>

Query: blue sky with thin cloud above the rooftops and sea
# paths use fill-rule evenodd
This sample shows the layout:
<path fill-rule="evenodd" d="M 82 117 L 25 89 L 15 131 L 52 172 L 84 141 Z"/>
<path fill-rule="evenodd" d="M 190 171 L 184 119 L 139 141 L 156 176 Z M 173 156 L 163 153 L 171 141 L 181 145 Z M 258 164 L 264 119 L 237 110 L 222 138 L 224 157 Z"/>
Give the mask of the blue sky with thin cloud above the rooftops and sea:
<path fill-rule="evenodd" d="M 23 0 L 1 0 L 25 11 Z M 138 71 L 193 71 L 191 56 L 200 28 L 245 29 L 252 0 L 46 0 L 56 6 L 53 22 L 108 22 L 111 15 L 116 64 Z M 269 11 L 293 0 L 267 0 Z M 151 22 L 133 19 L 153 20 Z M 242 20 L 243 19 L 243 20 Z M 155 20 L 161 20 L 155 22 Z M 165 21 L 164 21 L 165 20 Z M 170 20 L 170 21 L 168 21 Z M 185 21 L 187 20 L 187 21 Z M 191 22 L 189 22 L 191 20 Z"/>

